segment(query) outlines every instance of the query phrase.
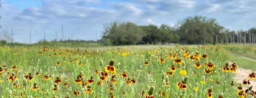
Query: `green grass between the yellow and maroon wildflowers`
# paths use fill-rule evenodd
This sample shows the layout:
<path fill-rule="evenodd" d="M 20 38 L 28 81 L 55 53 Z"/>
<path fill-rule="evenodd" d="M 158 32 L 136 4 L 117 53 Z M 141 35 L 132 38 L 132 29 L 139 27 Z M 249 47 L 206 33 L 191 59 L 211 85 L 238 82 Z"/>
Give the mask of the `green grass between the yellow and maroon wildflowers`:
<path fill-rule="evenodd" d="M 234 98 L 237 97 L 238 91 L 236 90 L 238 84 L 231 86 L 230 83 L 233 80 L 233 72 L 223 72 L 222 68 L 224 65 L 231 61 L 236 61 L 238 66 L 245 65 L 245 67 L 251 63 L 249 61 L 240 58 L 238 60 L 233 54 L 226 52 L 222 45 L 138 45 L 138 46 L 102 46 L 102 47 L 84 47 L 86 44 L 79 43 L 78 47 L 71 48 L 70 45 L 63 46 L 53 46 L 54 43 L 49 43 L 46 46 L 46 52 L 42 52 L 44 46 L 42 43 L 40 45 L 30 46 L 14 46 L 0 47 L 0 67 L 4 69 L 1 72 L 0 79 L 3 81 L 0 83 L 0 95 L 4 98 L 19 97 L 20 94 L 24 93 L 27 97 L 30 95 L 32 97 L 42 97 L 42 98 L 52 98 L 52 97 L 67 97 L 70 98 L 106 98 L 108 95 L 114 95 L 116 98 L 144 98 L 140 93 L 144 90 L 145 94 L 149 93 L 149 88 L 154 86 L 153 95 L 155 98 L 161 97 L 166 98 L 166 96 L 158 95 L 160 92 L 164 91 L 168 94 L 169 98 L 188 98 L 190 94 L 193 94 L 193 98 L 205 98 L 207 97 L 208 89 L 213 86 L 212 98 L 218 98 L 220 93 L 224 93 L 224 98 Z M 79 47 L 82 46 L 82 47 Z M 188 50 L 189 54 L 194 55 L 198 51 L 204 54 L 205 51 L 208 55 L 208 59 L 200 58 L 201 68 L 197 69 L 194 67 L 196 61 L 190 60 L 188 57 L 182 57 L 184 52 Z M 56 52 L 53 52 L 56 50 Z M 54 55 L 56 54 L 56 56 Z M 183 60 L 182 64 L 175 64 L 174 59 L 168 57 L 170 54 L 179 55 Z M 51 55 L 49 57 L 49 55 Z M 160 59 L 164 60 L 161 63 Z M 78 61 L 74 61 L 78 59 Z M 103 60 L 104 66 L 100 66 L 100 59 Z M 102 71 L 105 66 L 110 64 L 110 60 L 114 59 L 114 66 L 116 67 L 116 75 L 113 79 L 116 79 L 117 83 L 107 84 L 106 81 L 99 80 L 101 75 L 94 74 L 95 68 L 98 71 Z M 144 65 L 146 59 L 149 65 Z M 57 61 L 61 64 L 57 65 Z M 70 63 L 73 61 L 73 63 Z M 213 62 L 215 67 L 212 68 L 212 74 L 204 72 L 207 67 L 204 64 Z M 82 65 L 78 63 L 81 62 Z M 120 65 L 118 65 L 120 63 Z M 221 64 L 220 64 L 221 63 Z M 12 69 L 14 65 L 17 69 Z M 139 72 L 138 69 L 142 65 L 142 71 Z M 176 71 L 172 76 L 167 76 L 170 82 L 169 86 L 162 86 L 163 82 L 163 72 L 168 72 L 169 68 L 174 65 Z M 4 67 L 7 66 L 7 67 Z M 180 66 L 181 68 L 178 68 Z M 184 66 L 184 67 L 183 67 Z M 242 66 L 241 66 L 242 67 Z M 53 69 L 56 68 L 56 71 Z M 180 71 L 185 68 L 187 74 L 181 75 Z M 126 71 L 127 78 L 122 78 L 118 73 L 124 73 Z M 148 71 L 151 73 L 148 74 Z M 39 72 L 40 75 L 36 76 L 35 73 Z M 84 77 L 79 78 L 80 80 L 85 80 L 87 82 L 91 76 L 93 76 L 94 83 L 83 87 L 79 83 L 75 83 L 74 80 L 77 79 L 78 75 L 84 75 Z M 193 74 L 192 74 L 193 72 Z M 13 86 L 15 81 L 8 81 L 10 75 L 14 75 L 19 79 L 20 88 Z M 22 89 L 23 78 L 25 75 L 31 73 L 34 80 L 27 80 L 27 86 L 29 89 Z M 196 74 L 194 74 L 196 73 Z M 52 76 L 50 80 L 44 80 L 45 75 Z M 186 81 L 186 92 L 182 93 L 182 90 L 177 88 L 177 83 L 182 82 L 181 78 L 188 76 Z M 205 84 L 200 83 L 202 77 L 205 76 Z M 225 76 L 225 78 L 223 78 Z M 54 81 L 59 77 L 62 82 L 54 83 Z M 126 84 L 128 78 L 136 80 L 136 83 Z M 213 81 L 209 81 L 213 79 Z M 109 72 L 108 83 L 111 80 L 111 73 Z M 167 80 L 166 80 L 167 81 Z M 39 87 L 38 90 L 32 91 L 30 88 L 37 83 Z M 69 85 L 66 87 L 64 83 L 67 82 Z M 101 82 L 98 86 L 97 82 Z M 217 84 L 216 82 L 219 82 Z M 194 91 L 193 88 L 198 83 L 198 91 Z M 54 90 L 54 85 L 58 87 L 58 90 Z M 191 85 L 191 86 L 190 86 Z M 92 88 L 93 93 L 86 93 L 87 88 Z M 112 87 L 113 92 L 108 92 L 108 88 Z M 41 90 L 43 89 L 43 93 Z M 244 87 L 244 90 L 247 89 Z M 10 90 L 12 94 L 9 94 Z M 152 90 L 152 89 L 151 89 Z M 48 91 L 48 92 L 47 92 Z M 74 95 L 74 91 L 79 91 L 80 95 Z M 180 95 L 181 94 L 181 95 Z"/>

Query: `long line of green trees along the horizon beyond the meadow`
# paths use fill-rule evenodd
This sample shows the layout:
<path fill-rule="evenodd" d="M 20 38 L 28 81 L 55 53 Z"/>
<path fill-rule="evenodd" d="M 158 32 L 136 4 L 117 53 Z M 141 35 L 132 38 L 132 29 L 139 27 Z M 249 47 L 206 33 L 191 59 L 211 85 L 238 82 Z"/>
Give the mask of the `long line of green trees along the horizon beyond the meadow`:
<path fill-rule="evenodd" d="M 256 27 L 248 31 L 230 31 L 214 18 L 188 17 L 176 26 L 152 24 L 138 26 L 132 22 L 112 22 L 104 25 L 101 41 L 111 45 L 134 44 L 215 44 L 255 43 Z"/>

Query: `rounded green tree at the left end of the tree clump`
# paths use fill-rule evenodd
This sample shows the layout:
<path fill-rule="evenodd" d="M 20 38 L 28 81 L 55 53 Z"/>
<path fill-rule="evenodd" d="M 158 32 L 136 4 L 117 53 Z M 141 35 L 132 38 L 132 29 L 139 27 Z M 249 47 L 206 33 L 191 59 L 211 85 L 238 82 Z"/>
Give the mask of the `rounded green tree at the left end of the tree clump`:
<path fill-rule="evenodd" d="M 103 38 L 111 41 L 112 45 L 134 45 L 141 41 L 142 29 L 131 22 L 113 22 L 105 25 Z"/>

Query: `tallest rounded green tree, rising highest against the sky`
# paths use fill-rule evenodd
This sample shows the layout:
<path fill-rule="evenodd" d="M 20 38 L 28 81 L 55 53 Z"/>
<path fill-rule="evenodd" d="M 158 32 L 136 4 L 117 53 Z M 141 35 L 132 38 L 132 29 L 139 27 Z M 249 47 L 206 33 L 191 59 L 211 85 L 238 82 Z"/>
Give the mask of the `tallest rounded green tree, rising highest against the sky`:
<path fill-rule="evenodd" d="M 203 16 L 188 17 L 182 22 L 178 33 L 182 43 L 188 44 L 206 44 L 214 42 L 216 35 L 220 34 L 222 26 L 216 22 L 216 19 L 207 19 Z"/>

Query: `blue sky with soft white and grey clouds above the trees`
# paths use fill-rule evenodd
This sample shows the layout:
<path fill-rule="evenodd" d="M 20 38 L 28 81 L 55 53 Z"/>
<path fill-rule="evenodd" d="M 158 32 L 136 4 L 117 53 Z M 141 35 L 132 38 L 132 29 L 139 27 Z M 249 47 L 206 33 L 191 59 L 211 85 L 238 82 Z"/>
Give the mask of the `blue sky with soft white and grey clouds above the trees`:
<path fill-rule="evenodd" d="M 96 40 L 104 25 L 133 22 L 137 25 L 176 26 L 189 16 L 215 18 L 230 31 L 256 27 L 256 0 L 0 0 L 2 31 L 14 42 L 45 39 Z M 63 37 L 62 37 L 63 26 Z M 31 35 L 30 35 L 31 31 Z"/>

